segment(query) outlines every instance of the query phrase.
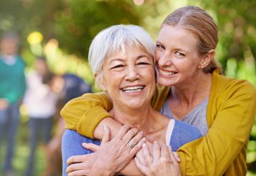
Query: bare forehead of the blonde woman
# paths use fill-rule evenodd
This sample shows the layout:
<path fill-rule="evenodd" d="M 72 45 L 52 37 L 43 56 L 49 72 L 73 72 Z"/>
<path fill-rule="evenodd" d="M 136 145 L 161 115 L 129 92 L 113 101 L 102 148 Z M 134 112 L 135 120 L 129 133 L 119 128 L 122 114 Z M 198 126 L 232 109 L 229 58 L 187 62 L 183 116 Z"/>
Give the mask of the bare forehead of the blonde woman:
<path fill-rule="evenodd" d="M 196 49 L 197 37 L 189 30 L 182 28 L 182 26 L 163 25 L 157 36 L 157 42 L 189 51 Z"/>

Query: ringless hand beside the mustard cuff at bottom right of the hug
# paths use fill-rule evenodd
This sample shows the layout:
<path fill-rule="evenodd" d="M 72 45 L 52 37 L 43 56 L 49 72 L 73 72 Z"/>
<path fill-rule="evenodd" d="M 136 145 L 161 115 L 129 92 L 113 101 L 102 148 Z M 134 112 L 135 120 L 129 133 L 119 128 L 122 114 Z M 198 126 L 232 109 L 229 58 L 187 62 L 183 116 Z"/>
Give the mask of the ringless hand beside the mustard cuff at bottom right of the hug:
<path fill-rule="evenodd" d="M 147 176 L 173 175 L 178 176 L 180 169 L 172 150 L 163 145 L 161 148 L 154 142 L 152 155 L 147 144 L 143 144 L 142 152 L 138 152 L 135 158 L 136 167 Z"/>

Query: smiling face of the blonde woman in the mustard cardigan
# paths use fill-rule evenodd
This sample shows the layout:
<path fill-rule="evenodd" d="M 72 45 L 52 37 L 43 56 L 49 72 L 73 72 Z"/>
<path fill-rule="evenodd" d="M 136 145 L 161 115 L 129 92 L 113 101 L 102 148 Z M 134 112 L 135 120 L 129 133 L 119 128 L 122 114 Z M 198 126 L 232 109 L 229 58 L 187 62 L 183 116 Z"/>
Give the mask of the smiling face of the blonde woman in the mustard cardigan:
<path fill-rule="evenodd" d="M 178 86 L 195 78 L 201 61 L 196 44 L 197 38 L 188 30 L 170 25 L 161 28 L 155 51 L 159 84 Z"/>

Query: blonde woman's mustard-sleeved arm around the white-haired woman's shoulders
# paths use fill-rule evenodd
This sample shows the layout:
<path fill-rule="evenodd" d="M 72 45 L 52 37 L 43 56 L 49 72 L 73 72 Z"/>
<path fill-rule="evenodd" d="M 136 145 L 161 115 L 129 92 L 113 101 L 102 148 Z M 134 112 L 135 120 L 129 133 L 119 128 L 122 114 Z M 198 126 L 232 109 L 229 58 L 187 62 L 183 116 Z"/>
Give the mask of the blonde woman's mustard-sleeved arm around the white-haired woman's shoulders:
<path fill-rule="evenodd" d="M 165 97 L 168 96 L 170 88 L 157 86 L 155 96 L 151 100 L 151 105 L 154 109 L 159 111 Z M 70 100 L 61 109 L 61 117 L 65 119 L 66 128 L 78 131 L 88 138 L 101 139 L 103 132 L 103 125 L 111 128 L 111 137 L 116 134 L 121 125 L 111 118 L 107 113 L 112 109 L 111 100 L 105 92 L 97 94 L 84 94 L 78 98 Z M 100 123 L 102 121 L 102 123 Z M 97 125 L 99 124 L 99 127 Z M 97 127 L 97 128 L 96 128 Z M 96 129 L 95 129 L 96 128 Z"/>

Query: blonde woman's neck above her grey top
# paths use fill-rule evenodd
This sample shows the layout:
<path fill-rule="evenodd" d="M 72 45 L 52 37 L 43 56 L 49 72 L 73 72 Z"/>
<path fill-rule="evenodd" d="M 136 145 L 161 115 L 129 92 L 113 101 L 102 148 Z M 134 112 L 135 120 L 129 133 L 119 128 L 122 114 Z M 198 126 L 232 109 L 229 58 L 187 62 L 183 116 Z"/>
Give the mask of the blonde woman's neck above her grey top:
<path fill-rule="evenodd" d="M 205 99 L 209 96 L 211 90 L 211 74 L 205 74 L 201 71 L 193 80 L 172 87 L 172 98 L 178 99 L 180 102 L 186 102 L 191 105 L 193 102 Z"/>

